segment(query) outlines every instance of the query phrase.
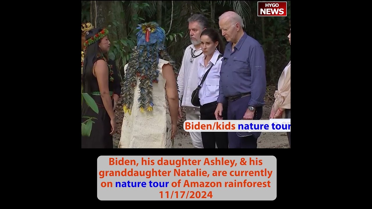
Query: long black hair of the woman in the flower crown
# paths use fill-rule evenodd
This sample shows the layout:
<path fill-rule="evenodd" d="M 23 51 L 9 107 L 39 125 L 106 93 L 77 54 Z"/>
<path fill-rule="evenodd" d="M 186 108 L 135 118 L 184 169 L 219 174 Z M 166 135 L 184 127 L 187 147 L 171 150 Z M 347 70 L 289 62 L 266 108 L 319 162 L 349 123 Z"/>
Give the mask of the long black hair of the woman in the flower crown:
<path fill-rule="evenodd" d="M 92 36 L 101 32 L 101 28 L 93 28 L 89 30 L 89 34 L 86 35 L 85 39 L 88 40 L 92 38 Z M 93 76 L 93 65 L 97 61 L 98 57 L 103 56 L 103 52 L 101 48 L 99 48 L 98 44 L 101 42 L 102 39 L 99 41 L 86 46 L 86 52 L 84 57 L 84 64 L 83 64 L 83 75 L 81 79 L 81 84 L 83 85 L 83 91 L 90 94 L 90 79 Z"/>

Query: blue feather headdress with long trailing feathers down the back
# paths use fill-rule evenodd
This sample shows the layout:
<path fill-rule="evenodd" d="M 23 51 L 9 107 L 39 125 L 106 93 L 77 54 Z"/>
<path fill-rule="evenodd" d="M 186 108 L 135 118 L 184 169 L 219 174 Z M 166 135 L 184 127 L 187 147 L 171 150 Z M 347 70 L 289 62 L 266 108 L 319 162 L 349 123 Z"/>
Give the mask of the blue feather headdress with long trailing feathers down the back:
<path fill-rule="evenodd" d="M 155 22 L 138 25 L 137 47 L 133 49 L 131 60 L 125 73 L 124 81 L 124 112 L 131 114 L 133 105 L 134 89 L 137 86 L 137 78 L 140 81 L 140 97 L 138 98 L 141 112 L 153 110 L 153 85 L 158 83 L 159 58 L 167 60 L 176 70 L 176 65 L 165 53 L 165 31 Z"/>

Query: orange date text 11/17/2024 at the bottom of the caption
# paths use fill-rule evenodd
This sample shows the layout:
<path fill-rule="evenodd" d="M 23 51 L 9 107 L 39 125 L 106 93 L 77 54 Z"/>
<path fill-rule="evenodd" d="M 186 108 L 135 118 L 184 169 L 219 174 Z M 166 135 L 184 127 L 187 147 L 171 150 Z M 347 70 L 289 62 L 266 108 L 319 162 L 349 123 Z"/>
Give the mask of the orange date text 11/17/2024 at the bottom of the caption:
<path fill-rule="evenodd" d="M 212 191 L 206 192 L 206 191 L 160 191 L 160 198 L 166 198 L 166 199 L 206 199 L 213 197 Z"/>

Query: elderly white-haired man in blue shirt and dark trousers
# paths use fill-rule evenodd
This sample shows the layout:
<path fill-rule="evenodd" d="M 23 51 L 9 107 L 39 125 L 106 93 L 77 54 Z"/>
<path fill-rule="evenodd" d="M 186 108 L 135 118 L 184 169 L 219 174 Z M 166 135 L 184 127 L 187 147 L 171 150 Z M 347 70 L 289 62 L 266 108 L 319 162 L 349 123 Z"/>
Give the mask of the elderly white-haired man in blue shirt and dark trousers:
<path fill-rule="evenodd" d="M 228 41 L 220 71 L 217 120 L 227 103 L 228 120 L 259 120 L 266 93 L 263 48 L 243 30 L 243 20 L 232 11 L 219 17 L 222 36 Z M 257 148 L 261 132 L 229 132 L 230 148 Z"/>

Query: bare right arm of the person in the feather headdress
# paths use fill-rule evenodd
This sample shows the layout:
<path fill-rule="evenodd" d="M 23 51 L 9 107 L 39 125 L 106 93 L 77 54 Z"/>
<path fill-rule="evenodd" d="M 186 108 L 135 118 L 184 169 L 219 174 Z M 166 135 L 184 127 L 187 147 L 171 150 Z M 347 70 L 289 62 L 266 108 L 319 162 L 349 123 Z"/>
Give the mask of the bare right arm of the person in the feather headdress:
<path fill-rule="evenodd" d="M 178 115 L 178 91 L 176 77 L 174 76 L 173 68 L 170 64 L 163 65 L 163 76 L 166 80 L 166 93 L 169 103 L 169 112 L 172 118 L 172 124 L 177 125 Z"/>

